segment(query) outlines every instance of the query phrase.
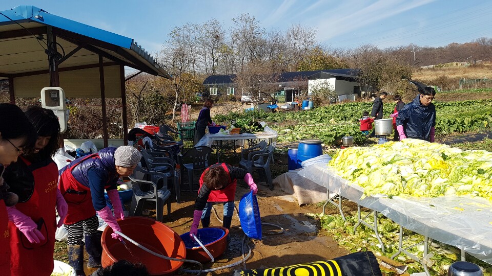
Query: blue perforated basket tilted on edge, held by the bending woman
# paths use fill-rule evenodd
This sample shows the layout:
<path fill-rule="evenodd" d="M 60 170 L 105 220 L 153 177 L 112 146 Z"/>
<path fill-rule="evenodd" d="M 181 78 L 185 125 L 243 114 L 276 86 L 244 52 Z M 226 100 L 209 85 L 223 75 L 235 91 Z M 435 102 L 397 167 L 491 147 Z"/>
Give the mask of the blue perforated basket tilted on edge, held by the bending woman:
<path fill-rule="evenodd" d="M 243 195 L 239 201 L 239 219 L 244 234 L 252 239 L 261 240 L 260 209 L 253 192 Z"/>

